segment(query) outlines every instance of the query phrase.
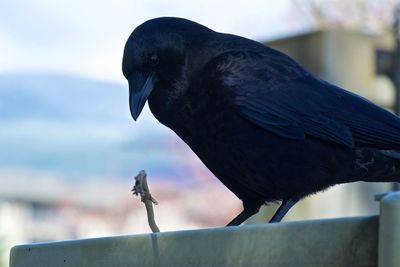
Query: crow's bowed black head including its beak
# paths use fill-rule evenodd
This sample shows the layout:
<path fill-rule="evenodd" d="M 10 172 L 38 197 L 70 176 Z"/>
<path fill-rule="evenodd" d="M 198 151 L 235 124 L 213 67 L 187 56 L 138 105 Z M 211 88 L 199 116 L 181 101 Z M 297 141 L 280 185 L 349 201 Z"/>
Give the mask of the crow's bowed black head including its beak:
<path fill-rule="evenodd" d="M 187 76 L 196 70 L 191 62 L 199 62 L 191 57 L 201 54 L 197 48 L 209 32 L 195 22 L 169 17 L 146 21 L 132 32 L 125 45 L 122 71 L 129 83 L 134 120 L 147 99 L 152 111 L 154 107 L 162 112 L 184 94 Z"/>

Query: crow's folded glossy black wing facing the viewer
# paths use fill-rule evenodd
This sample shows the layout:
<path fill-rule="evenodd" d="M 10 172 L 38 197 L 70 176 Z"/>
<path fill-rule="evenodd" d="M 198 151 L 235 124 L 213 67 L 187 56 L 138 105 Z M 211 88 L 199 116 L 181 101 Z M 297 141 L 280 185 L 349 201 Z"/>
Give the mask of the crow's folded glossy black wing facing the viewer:
<path fill-rule="evenodd" d="M 278 51 L 231 51 L 212 65 L 237 111 L 265 130 L 347 147 L 400 148 L 397 116 L 316 78 Z"/>

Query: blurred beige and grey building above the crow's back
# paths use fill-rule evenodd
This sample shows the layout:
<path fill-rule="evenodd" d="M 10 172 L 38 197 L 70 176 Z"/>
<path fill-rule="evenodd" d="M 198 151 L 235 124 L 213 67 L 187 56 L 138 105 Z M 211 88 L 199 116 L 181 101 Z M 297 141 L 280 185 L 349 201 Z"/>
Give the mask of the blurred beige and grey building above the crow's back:
<path fill-rule="evenodd" d="M 375 50 L 392 48 L 391 33 L 372 34 L 344 29 L 316 31 L 273 40 L 268 46 L 283 51 L 319 77 L 392 108 L 394 88 L 375 74 Z"/>

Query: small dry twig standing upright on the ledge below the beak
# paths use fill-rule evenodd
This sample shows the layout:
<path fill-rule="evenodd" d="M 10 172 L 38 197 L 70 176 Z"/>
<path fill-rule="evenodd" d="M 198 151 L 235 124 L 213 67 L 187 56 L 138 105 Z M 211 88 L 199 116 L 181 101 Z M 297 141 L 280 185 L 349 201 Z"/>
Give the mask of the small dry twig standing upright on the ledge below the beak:
<path fill-rule="evenodd" d="M 154 211 L 153 211 L 153 203 L 157 205 L 158 202 L 155 200 L 151 194 L 149 187 L 147 185 L 147 174 L 145 171 L 140 171 L 138 175 L 135 176 L 135 185 L 132 190 L 134 195 L 140 195 L 142 202 L 146 206 L 147 212 L 147 220 L 149 222 L 149 226 L 153 233 L 160 232 L 158 226 L 154 220 Z"/>

